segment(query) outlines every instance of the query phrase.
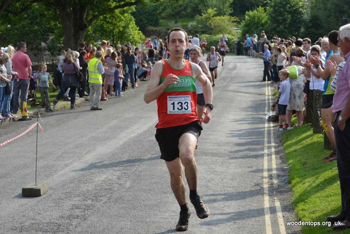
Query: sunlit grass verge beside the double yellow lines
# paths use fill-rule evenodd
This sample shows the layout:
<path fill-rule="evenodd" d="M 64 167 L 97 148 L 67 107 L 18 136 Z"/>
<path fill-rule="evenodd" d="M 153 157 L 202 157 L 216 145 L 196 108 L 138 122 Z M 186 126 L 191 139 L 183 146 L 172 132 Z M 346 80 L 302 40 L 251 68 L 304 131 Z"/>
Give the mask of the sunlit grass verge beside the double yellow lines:
<path fill-rule="evenodd" d="M 283 149 L 289 167 L 292 203 L 301 221 L 325 221 L 328 215 L 341 209 L 341 197 L 336 161 L 323 163 L 329 150 L 323 149 L 323 135 L 313 134 L 311 125 L 304 125 L 283 132 Z M 327 226 L 303 226 L 303 233 L 334 232 Z"/>

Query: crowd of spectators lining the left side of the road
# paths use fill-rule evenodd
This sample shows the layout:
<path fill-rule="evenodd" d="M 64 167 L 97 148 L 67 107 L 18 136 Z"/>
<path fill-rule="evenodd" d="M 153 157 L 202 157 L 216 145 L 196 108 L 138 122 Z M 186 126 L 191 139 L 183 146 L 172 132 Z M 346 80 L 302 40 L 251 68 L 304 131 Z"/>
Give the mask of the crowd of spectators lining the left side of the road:
<path fill-rule="evenodd" d="M 227 40 L 223 34 L 217 46 L 224 55 L 229 50 Z M 114 46 L 106 40 L 96 46 L 82 42 L 77 50 L 61 50 L 53 73 L 48 72 L 46 64 L 32 71 L 25 42 L 19 42 L 16 48 L 8 45 L 5 51 L 0 50 L 0 121 L 16 120 L 16 114 L 27 109 L 27 100 L 32 100 L 28 94 L 34 94 L 33 105 L 41 105 L 46 112 L 52 112 L 52 105 L 61 99 L 70 101 L 70 108 L 75 109 L 75 101 L 88 96 L 91 110 L 101 110 L 100 100 L 106 100 L 107 95 L 123 97 L 128 88 L 139 86 L 138 81 L 149 80 L 156 61 L 170 58 L 167 36 L 163 40 L 147 38 L 138 47 L 130 42 Z M 198 35 L 189 36 L 185 59 L 190 59 L 190 48 L 195 46 L 202 48 L 204 55 L 207 41 L 200 40 Z M 58 93 L 53 101 L 49 97 L 50 86 Z M 40 92 L 41 102 L 36 100 L 36 92 Z"/>

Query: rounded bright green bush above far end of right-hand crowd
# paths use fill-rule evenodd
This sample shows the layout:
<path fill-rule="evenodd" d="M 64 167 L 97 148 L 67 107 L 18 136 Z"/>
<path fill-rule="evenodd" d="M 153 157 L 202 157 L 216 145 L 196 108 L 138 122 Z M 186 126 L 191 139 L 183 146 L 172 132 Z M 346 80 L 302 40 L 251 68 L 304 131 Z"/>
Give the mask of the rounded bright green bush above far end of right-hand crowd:
<path fill-rule="evenodd" d="M 268 16 L 263 7 L 248 11 L 245 13 L 245 18 L 239 27 L 241 30 L 241 37 L 246 34 L 252 35 L 253 31 L 259 34 L 261 30 L 266 29 L 267 24 Z"/>

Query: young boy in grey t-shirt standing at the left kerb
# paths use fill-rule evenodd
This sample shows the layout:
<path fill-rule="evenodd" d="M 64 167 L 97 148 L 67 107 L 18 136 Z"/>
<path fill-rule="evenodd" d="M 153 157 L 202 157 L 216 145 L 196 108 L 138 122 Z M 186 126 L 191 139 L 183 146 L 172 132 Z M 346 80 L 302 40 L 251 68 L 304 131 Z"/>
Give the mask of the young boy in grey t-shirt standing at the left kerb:
<path fill-rule="evenodd" d="M 40 66 L 39 73 L 36 74 L 36 80 L 39 82 L 39 91 L 41 95 L 42 106 L 46 107 L 46 112 L 52 112 L 50 97 L 49 97 L 49 82 L 52 84 L 52 87 L 56 89 L 55 85 L 52 83 L 50 74 L 47 71 L 47 66 L 42 64 Z"/>

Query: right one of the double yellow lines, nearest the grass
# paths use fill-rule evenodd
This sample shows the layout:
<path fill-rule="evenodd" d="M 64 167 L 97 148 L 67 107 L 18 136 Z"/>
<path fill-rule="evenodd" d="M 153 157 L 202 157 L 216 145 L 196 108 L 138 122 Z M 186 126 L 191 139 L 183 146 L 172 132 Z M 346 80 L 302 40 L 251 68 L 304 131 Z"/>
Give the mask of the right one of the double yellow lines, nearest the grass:
<path fill-rule="evenodd" d="M 269 103 L 271 103 L 271 87 L 270 86 L 268 86 L 268 94 L 269 94 Z M 270 122 L 272 183 L 273 183 L 273 186 L 276 187 L 278 180 L 277 180 L 277 172 L 276 172 L 276 156 L 275 156 L 275 143 L 274 143 L 273 130 L 274 130 L 273 123 Z M 274 197 L 274 205 L 276 207 L 276 214 L 277 214 L 278 227 L 280 229 L 280 234 L 286 234 L 286 227 L 285 227 L 284 220 L 283 220 L 282 208 L 281 208 L 281 204 L 280 204 L 277 197 Z"/>

